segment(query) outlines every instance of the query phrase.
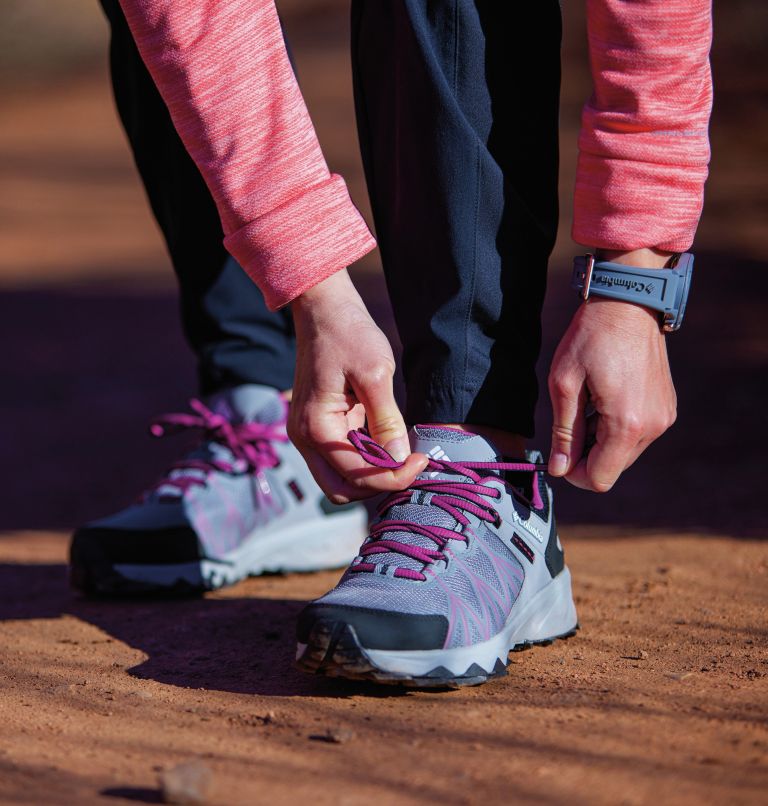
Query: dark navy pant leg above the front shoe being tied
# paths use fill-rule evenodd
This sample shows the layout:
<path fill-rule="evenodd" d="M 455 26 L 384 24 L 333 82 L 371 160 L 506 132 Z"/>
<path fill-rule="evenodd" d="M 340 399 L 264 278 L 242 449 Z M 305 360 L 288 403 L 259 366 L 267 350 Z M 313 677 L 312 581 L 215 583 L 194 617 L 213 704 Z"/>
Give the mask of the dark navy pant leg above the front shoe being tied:
<path fill-rule="evenodd" d="M 353 0 L 352 15 L 407 419 L 531 435 L 557 231 L 559 4 Z"/>

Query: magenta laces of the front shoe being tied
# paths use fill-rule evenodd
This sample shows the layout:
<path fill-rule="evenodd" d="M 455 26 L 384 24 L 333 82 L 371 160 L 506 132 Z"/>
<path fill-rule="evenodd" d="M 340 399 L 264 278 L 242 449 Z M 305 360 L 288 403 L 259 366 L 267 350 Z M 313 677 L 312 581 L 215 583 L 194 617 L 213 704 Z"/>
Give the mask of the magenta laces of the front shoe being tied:
<path fill-rule="evenodd" d="M 402 466 L 402 462 L 393 459 L 366 431 L 350 431 L 348 439 L 368 464 L 391 470 Z M 413 493 L 419 492 L 423 494 L 429 493 L 429 503 L 447 512 L 461 527 L 469 526 L 470 523 L 465 513 L 472 513 L 481 521 L 487 521 L 498 526 L 501 523 L 501 517 L 487 499 L 501 498 L 501 491 L 498 487 L 487 486 L 486 483 L 491 480 L 498 482 L 500 476 L 481 475 L 477 471 L 510 470 L 533 473 L 533 500 L 531 503 L 534 508 L 541 509 L 544 503 L 539 492 L 538 474 L 546 469 L 546 464 L 534 464 L 532 462 L 450 462 L 430 457 L 429 464 L 424 472 L 451 473 L 465 476 L 471 481 L 434 478 L 416 479 L 410 487 L 402 492 L 392 493 L 387 496 L 378 507 L 377 515 L 383 516 L 392 507 L 408 503 L 411 501 Z M 422 535 L 431 540 L 436 548 L 423 548 L 403 543 L 394 537 L 382 537 L 381 535 L 386 532 L 405 532 L 406 534 Z M 428 566 L 446 559 L 445 550 L 451 540 L 460 540 L 466 543 L 467 537 L 463 534 L 463 529 L 457 532 L 444 526 L 432 526 L 407 520 L 384 519 L 371 527 L 370 539 L 360 549 L 360 556 L 374 558 L 377 554 L 393 552 L 410 557 Z M 376 564 L 363 560 L 363 562 L 351 566 L 349 570 L 375 572 Z M 400 566 L 395 568 L 394 576 L 418 581 L 426 580 L 426 575 L 421 571 Z"/>

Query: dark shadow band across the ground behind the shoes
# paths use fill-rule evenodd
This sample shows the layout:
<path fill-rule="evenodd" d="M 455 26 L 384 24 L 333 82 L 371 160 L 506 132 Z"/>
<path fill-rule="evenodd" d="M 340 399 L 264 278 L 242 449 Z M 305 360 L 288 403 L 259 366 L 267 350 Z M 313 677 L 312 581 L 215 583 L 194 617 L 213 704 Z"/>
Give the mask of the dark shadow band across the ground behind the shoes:
<path fill-rule="evenodd" d="M 383 279 L 357 279 L 394 337 Z M 557 484 L 563 523 L 765 535 L 766 292 L 765 266 L 698 255 L 685 327 L 669 339 L 678 423 L 609 495 Z M 567 273 L 555 269 L 542 367 L 575 305 Z M 68 529 L 130 502 L 181 450 L 146 436 L 148 420 L 194 393 L 173 291 L 4 291 L 0 307 L 0 529 Z M 538 424 L 546 446 L 546 394 Z"/>

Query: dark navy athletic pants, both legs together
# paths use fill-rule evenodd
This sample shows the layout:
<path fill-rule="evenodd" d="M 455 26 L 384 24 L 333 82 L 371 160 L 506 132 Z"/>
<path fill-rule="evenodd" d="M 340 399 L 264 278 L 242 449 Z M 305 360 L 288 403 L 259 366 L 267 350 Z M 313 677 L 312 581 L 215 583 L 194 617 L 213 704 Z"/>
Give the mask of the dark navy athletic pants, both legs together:
<path fill-rule="evenodd" d="M 221 227 L 116 0 L 115 96 L 179 276 L 206 391 L 287 387 L 293 330 L 227 261 Z M 353 0 L 363 162 L 400 337 L 406 419 L 533 432 L 557 230 L 560 6 Z"/>

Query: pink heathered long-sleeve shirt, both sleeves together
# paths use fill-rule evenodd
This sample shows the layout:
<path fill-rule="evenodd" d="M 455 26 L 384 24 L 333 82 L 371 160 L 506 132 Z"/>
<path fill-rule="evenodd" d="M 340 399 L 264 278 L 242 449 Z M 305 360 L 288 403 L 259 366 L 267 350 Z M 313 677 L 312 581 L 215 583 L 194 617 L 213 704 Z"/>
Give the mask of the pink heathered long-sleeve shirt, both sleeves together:
<path fill-rule="evenodd" d="M 211 190 L 224 244 L 271 308 L 375 246 L 331 174 L 274 0 L 120 0 Z M 684 251 L 709 161 L 711 0 L 586 0 L 594 93 L 579 138 L 573 237 Z"/>

